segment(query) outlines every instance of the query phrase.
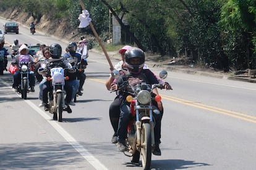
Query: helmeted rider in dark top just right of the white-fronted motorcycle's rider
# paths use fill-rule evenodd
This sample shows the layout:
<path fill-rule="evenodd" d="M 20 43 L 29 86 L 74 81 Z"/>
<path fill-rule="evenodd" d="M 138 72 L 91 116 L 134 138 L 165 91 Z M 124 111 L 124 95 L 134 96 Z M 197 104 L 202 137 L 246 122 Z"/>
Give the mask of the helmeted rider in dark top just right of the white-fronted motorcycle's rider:
<path fill-rule="evenodd" d="M 83 69 L 85 69 L 88 65 L 87 59 L 82 59 L 82 55 L 76 52 L 77 43 L 74 41 L 69 42 L 67 49 L 69 50 L 69 52 L 64 54 L 64 57 L 74 59 L 75 61 L 74 67 L 77 68 L 79 66 L 79 63 L 81 63 L 83 65 Z M 81 91 L 83 91 L 83 84 L 85 83 L 85 79 L 86 79 L 86 75 L 83 69 L 82 71 L 77 70 L 77 79 L 79 79 L 79 89 L 77 91 L 78 95 L 83 94 Z"/>

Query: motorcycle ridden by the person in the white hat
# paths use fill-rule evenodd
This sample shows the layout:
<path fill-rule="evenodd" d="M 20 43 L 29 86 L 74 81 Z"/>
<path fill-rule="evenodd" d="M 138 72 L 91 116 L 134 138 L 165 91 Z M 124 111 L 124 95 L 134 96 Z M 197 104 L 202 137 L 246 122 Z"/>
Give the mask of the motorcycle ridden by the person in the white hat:
<path fill-rule="evenodd" d="M 29 74 L 30 68 L 28 62 L 20 63 L 20 84 L 18 85 L 18 91 L 22 95 L 22 99 L 27 99 L 27 93 L 29 88 Z"/>

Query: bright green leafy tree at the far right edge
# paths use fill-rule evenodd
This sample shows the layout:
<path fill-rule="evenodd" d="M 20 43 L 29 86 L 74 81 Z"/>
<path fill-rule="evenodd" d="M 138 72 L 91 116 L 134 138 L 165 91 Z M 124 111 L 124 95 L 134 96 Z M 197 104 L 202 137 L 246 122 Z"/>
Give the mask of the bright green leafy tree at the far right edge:
<path fill-rule="evenodd" d="M 221 8 L 223 47 L 236 70 L 256 68 L 255 0 L 228 0 Z"/>

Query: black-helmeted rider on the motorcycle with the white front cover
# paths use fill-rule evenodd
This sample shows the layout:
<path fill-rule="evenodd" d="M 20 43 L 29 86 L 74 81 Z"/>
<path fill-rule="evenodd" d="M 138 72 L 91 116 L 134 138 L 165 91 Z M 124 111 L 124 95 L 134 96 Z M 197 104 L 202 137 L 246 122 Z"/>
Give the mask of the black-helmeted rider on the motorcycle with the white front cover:
<path fill-rule="evenodd" d="M 61 53 L 62 53 L 62 47 L 59 44 L 51 44 L 49 46 L 49 54 L 51 55 L 52 59 L 48 60 L 48 64 L 46 65 L 46 68 L 40 68 L 40 70 L 45 70 L 45 75 L 46 77 L 50 77 L 51 73 L 50 70 L 51 68 L 56 68 L 56 67 L 62 67 L 62 68 L 72 68 L 72 65 L 67 60 L 60 59 L 61 58 Z M 51 82 L 50 81 L 45 81 L 41 86 L 42 94 L 43 94 L 43 103 L 45 104 L 45 111 L 49 110 L 49 101 L 48 101 L 48 93 L 50 94 L 49 100 L 53 100 L 53 89 L 51 88 Z M 71 95 L 72 95 L 72 87 L 65 87 L 66 89 L 66 98 L 65 98 L 65 103 L 66 103 L 66 108 L 64 111 L 67 111 L 67 113 L 72 113 L 71 108 L 69 107 L 69 103 L 71 100 Z"/>

